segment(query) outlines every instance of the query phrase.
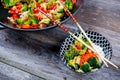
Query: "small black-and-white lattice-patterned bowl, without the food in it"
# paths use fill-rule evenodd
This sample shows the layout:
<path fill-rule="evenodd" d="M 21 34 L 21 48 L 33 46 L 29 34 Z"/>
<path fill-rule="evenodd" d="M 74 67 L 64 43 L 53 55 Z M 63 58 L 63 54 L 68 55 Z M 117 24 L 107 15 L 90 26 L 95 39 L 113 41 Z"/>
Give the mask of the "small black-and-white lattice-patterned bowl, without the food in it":
<path fill-rule="evenodd" d="M 79 36 L 79 34 L 81 34 L 80 31 L 74 33 L 76 36 Z M 108 60 L 111 59 L 112 57 L 112 47 L 110 45 L 110 42 L 104 37 L 102 36 L 101 34 L 97 33 L 97 32 L 93 32 L 93 31 L 86 31 L 86 34 L 88 35 L 88 37 L 91 39 L 91 41 L 97 45 L 97 46 L 100 46 L 102 48 L 102 51 L 104 52 L 104 57 Z M 62 61 L 64 62 L 64 64 L 66 66 L 67 63 L 66 63 L 66 60 L 65 60 L 65 57 L 64 57 L 64 54 L 66 52 L 66 50 L 69 49 L 70 45 L 72 45 L 75 41 L 75 38 L 73 38 L 71 35 L 68 36 L 65 41 L 63 42 L 63 44 L 61 45 L 61 48 L 60 48 L 60 57 L 62 59 Z M 104 64 L 101 63 L 102 66 L 101 67 L 104 67 Z M 70 69 L 72 69 L 70 66 L 68 66 Z"/>

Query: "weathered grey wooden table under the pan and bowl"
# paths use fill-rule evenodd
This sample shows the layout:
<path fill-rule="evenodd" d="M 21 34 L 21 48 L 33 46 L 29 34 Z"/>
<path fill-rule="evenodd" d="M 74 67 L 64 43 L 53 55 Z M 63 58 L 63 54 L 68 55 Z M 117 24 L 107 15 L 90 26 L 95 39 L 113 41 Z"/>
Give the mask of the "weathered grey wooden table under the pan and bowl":
<path fill-rule="evenodd" d="M 75 17 L 85 30 L 99 32 L 110 41 L 111 61 L 120 66 L 120 0 L 85 0 Z M 64 25 L 72 32 L 78 30 L 72 20 Z M 40 32 L 1 30 L 0 56 L 41 78 L 0 63 L 0 80 L 120 80 L 120 71 L 111 66 L 89 74 L 68 69 L 59 57 L 60 45 L 67 36 L 59 28 Z"/>

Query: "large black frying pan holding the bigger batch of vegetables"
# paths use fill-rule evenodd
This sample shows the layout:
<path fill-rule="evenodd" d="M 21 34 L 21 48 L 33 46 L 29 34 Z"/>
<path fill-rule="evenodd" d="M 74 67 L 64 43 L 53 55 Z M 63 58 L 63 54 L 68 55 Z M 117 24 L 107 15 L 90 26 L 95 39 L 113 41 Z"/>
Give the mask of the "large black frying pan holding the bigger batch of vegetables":
<path fill-rule="evenodd" d="M 77 0 L 74 9 L 72 11 L 73 14 L 77 13 L 79 11 L 79 9 L 81 8 L 83 3 L 83 0 Z M 13 29 L 13 30 L 19 30 L 19 31 L 40 31 L 40 30 L 47 30 L 47 29 L 52 29 L 55 28 L 57 25 L 53 25 L 53 26 L 48 26 L 45 27 L 43 29 L 19 29 L 19 28 L 15 28 L 12 24 L 10 24 L 7 21 L 7 17 L 10 16 L 10 14 L 8 13 L 7 9 L 5 9 L 3 7 L 3 5 L 0 2 L 0 29 L 5 29 L 5 28 L 9 28 L 9 29 Z M 61 24 L 63 24 L 64 22 L 66 22 L 67 20 L 69 20 L 70 17 L 66 16 L 62 21 Z"/>

